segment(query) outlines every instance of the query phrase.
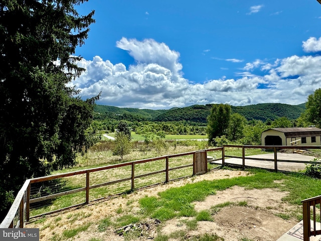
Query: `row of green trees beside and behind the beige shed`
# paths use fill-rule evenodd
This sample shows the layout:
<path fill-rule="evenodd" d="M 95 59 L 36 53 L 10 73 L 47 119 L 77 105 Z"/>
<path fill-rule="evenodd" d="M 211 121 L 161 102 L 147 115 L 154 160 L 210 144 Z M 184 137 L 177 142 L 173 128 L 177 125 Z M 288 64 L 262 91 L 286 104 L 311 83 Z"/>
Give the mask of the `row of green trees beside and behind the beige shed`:
<path fill-rule="evenodd" d="M 262 132 L 270 128 L 321 127 L 321 89 L 316 89 L 308 96 L 306 109 L 297 119 L 279 117 L 274 121 L 266 119 L 247 121 L 239 113 L 232 113 L 229 104 L 213 105 L 208 116 L 207 135 L 209 144 L 236 143 L 242 145 L 260 145 Z"/>

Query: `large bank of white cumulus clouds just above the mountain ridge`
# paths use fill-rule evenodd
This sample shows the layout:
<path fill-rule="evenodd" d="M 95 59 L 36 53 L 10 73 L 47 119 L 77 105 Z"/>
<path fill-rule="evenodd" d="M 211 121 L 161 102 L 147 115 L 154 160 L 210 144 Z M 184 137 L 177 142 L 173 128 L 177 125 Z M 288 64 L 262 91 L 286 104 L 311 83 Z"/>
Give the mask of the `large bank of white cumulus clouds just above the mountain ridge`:
<path fill-rule="evenodd" d="M 136 64 L 126 67 L 99 56 L 82 59 L 78 65 L 86 71 L 70 83 L 81 90 L 81 96 L 101 92 L 99 104 L 152 109 L 206 103 L 300 104 L 321 87 L 321 56 L 293 55 L 273 62 L 257 59 L 234 78 L 195 83 L 183 77 L 180 53 L 165 43 L 122 38 L 117 46 L 128 51 Z"/>

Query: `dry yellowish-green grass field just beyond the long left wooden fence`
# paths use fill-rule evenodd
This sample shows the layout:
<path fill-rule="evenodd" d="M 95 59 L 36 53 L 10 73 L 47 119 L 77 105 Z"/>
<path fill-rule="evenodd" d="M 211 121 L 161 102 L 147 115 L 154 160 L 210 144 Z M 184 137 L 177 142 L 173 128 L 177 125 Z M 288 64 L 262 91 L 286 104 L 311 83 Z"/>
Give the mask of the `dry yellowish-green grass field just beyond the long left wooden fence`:
<path fill-rule="evenodd" d="M 108 142 L 107 142 L 108 143 Z M 193 145 L 194 144 L 194 145 Z M 143 145 L 143 144 L 142 144 Z M 207 142 L 199 141 L 179 141 L 177 145 L 170 144 L 170 147 L 167 151 L 162 153 L 156 153 L 154 150 L 149 151 L 139 151 L 134 149 L 130 154 L 124 157 L 124 160 L 119 160 L 119 157 L 112 156 L 110 150 L 105 151 L 89 151 L 85 156 L 78 156 L 78 164 L 72 168 L 66 168 L 63 170 L 55 171 L 52 174 L 66 173 L 71 171 L 83 170 L 88 168 L 94 168 L 99 166 L 106 166 L 111 164 L 117 164 L 121 162 L 133 161 L 147 159 L 151 157 L 185 153 L 195 150 L 200 150 L 200 147 L 206 147 Z M 261 149 L 249 149 L 246 152 L 246 155 L 262 154 L 264 152 Z M 226 155 L 235 155 L 239 156 L 242 154 L 242 149 L 237 148 L 227 148 Z M 209 152 L 208 155 L 215 158 L 222 158 L 222 153 L 220 151 Z M 175 157 L 169 159 L 169 167 L 174 168 L 178 166 L 189 165 L 193 163 L 193 155 Z M 208 168 L 212 169 L 217 165 L 209 165 Z M 158 160 L 147 163 L 140 163 L 135 165 L 135 176 L 142 175 L 150 172 L 155 172 L 159 170 L 165 170 L 166 161 Z M 169 172 L 169 179 L 176 179 L 185 176 L 192 176 L 193 167 L 187 167 L 183 169 L 172 170 Z M 131 166 L 124 166 L 116 169 L 108 169 L 98 172 L 90 173 L 90 185 L 96 185 L 104 182 L 111 182 L 119 179 L 128 178 L 131 176 Z M 156 183 L 165 182 L 165 173 L 159 173 L 147 177 L 135 179 L 135 188 L 140 188 L 147 185 L 152 185 Z M 86 186 L 86 177 L 85 174 L 65 177 L 59 180 L 59 183 L 63 183 L 64 186 L 60 191 L 67 191 L 76 188 L 83 188 Z M 33 188 L 33 187 L 32 187 Z M 48 187 L 51 188 L 50 186 Z M 89 192 L 89 200 L 95 200 L 97 198 L 106 197 L 112 194 L 129 192 L 131 189 L 131 182 L 125 181 L 121 183 L 116 183 L 104 187 L 93 188 Z M 37 191 L 37 190 L 36 190 Z M 35 192 L 36 192 L 35 191 Z M 52 191 L 51 191 L 52 192 Z M 53 193 L 51 193 L 53 194 Z M 45 212 L 57 210 L 60 208 L 76 205 L 83 203 L 85 201 L 85 192 L 77 192 L 65 196 L 58 197 L 51 202 L 42 203 L 41 205 L 33 206 L 31 209 L 31 216 L 39 215 Z"/>

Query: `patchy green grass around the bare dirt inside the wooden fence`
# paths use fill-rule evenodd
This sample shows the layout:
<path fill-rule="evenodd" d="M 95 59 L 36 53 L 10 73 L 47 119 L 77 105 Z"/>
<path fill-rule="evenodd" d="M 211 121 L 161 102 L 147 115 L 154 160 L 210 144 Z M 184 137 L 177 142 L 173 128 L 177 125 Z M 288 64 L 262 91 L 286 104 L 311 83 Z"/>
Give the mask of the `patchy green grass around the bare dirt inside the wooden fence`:
<path fill-rule="evenodd" d="M 276 208 L 278 210 L 275 213 L 276 216 L 283 219 L 295 218 L 297 221 L 302 219 L 301 200 L 319 195 L 319 186 L 321 180 L 309 178 L 301 174 L 284 174 L 268 172 L 260 169 L 248 169 L 249 175 L 235 178 L 227 178 L 220 180 L 204 180 L 194 183 L 189 183 L 184 186 L 170 188 L 165 191 L 159 192 L 157 196 L 142 197 L 138 201 L 139 210 L 133 212 L 134 207 L 128 205 L 127 208 L 121 208 L 117 210 L 119 215 L 104 216 L 96 223 L 86 222 L 86 217 L 91 215 L 91 211 L 80 211 L 67 216 L 67 220 L 64 220 L 65 225 L 72 224 L 75 221 L 80 222 L 78 227 L 66 228 L 61 234 L 55 233 L 52 240 L 67 240 L 68 238 L 76 237 L 76 235 L 82 231 L 82 235 L 86 235 L 86 230 L 90 227 L 91 230 L 97 232 L 97 238 L 93 237 L 93 241 L 102 241 L 98 238 L 98 233 L 115 230 L 120 226 L 128 225 L 130 223 L 137 225 L 149 218 L 157 218 L 162 220 L 162 223 L 166 223 L 166 220 L 172 218 L 189 217 L 189 219 L 181 219 L 186 224 L 185 230 L 173 232 L 171 234 L 161 233 L 157 231 L 154 240 L 223 240 L 219 236 L 214 234 L 202 234 L 197 236 L 188 236 L 190 230 L 198 229 L 200 221 L 215 221 L 213 215 L 220 212 L 227 206 L 248 206 L 246 201 L 240 202 L 224 202 L 221 204 L 213 205 L 208 210 L 202 210 L 197 212 L 194 209 L 193 202 L 202 201 L 209 195 L 216 195 L 217 191 L 226 190 L 233 186 L 241 186 L 246 189 L 264 189 L 264 188 L 277 188 L 280 191 L 288 192 L 288 195 L 282 199 L 282 202 L 288 204 L 288 207 L 282 210 L 279 207 L 269 207 L 269 209 Z M 307 188 L 308 187 L 308 188 Z M 128 199 L 128 203 L 130 199 Z M 254 208 L 254 207 L 252 207 Z M 278 209 L 277 209 L 278 208 Z M 317 205 L 317 208 L 319 206 Z M 281 212 L 280 212 L 281 211 Z M 46 222 L 46 218 L 40 219 L 38 224 L 41 230 L 50 228 L 55 230 L 55 226 L 59 227 L 59 217 L 56 222 Z M 81 222 L 81 220 L 84 220 Z M 320 216 L 317 216 L 317 221 L 320 221 Z M 66 223 L 67 222 L 67 223 Z M 141 232 L 131 232 L 125 236 L 124 240 L 138 240 L 141 238 Z M 148 236 L 146 236 L 148 237 Z M 240 240 L 252 240 L 244 237 Z"/>

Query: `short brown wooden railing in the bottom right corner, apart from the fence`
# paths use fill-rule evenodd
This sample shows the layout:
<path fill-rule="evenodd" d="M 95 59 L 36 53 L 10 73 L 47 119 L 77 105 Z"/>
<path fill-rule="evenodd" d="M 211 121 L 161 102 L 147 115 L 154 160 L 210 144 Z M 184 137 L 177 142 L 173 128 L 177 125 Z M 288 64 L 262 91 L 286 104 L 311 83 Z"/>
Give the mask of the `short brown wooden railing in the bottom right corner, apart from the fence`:
<path fill-rule="evenodd" d="M 320 204 L 321 196 L 312 197 L 302 200 L 303 205 L 303 241 L 309 241 L 310 236 L 315 236 L 321 234 L 321 227 L 316 227 L 316 213 L 315 205 Z M 312 222 L 313 228 L 311 230 L 311 207 L 312 207 Z M 320 212 L 321 214 L 321 212 Z"/>

